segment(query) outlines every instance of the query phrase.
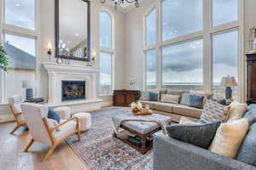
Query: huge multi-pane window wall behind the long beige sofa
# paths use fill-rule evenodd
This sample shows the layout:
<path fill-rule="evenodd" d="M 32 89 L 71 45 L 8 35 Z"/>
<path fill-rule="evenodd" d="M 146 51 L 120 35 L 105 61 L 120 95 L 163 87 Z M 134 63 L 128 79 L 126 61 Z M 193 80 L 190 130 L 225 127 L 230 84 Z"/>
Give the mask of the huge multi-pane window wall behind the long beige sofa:
<path fill-rule="evenodd" d="M 238 74 L 243 69 L 238 64 L 244 62 L 239 57 L 241 3 L 239 0 L 155 1 L 154 7 L 158 8 L 144 15 L 144 88 L 204 90 L 225 98 L 225 87 L 220 86 L 223 77 L 235 77 L 241 85 L 243 77 Z M 238 89 L 241 88 L 233 87 L 233 98 L 237 100 L 242 99 L 239 98 L 242 91 Z"/>

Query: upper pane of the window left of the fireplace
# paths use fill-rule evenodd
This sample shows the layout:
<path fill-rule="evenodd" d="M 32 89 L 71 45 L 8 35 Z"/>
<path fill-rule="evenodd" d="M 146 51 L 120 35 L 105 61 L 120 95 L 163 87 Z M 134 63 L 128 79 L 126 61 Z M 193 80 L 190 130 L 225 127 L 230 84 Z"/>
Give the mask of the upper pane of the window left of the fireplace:
<path fill-rule="evenodd" d="M 5 0 L 4 20 L 6 24 L 35 30 L 36 0 Z"/>

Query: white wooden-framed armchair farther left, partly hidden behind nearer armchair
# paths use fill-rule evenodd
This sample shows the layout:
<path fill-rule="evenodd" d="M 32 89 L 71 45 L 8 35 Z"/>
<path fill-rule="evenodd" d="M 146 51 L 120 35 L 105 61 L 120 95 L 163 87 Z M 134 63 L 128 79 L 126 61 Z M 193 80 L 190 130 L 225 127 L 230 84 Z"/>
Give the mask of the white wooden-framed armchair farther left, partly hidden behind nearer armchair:
<path fill-rule="evenodd" d="M 15 116 L 15 122 L 17 123 L 16 127 L 10 132 L 11 134 L 15 133 L 15 131 L 23 126 L 26 126 L 26 122 L 24 120 L 24 117 L 22 115 L 20 104 L 22 102 L 23 98 L 21 96 L 15 95 L 8 99 L 9 101 L 9 107 L 12 111 L 13 115 Z"/>

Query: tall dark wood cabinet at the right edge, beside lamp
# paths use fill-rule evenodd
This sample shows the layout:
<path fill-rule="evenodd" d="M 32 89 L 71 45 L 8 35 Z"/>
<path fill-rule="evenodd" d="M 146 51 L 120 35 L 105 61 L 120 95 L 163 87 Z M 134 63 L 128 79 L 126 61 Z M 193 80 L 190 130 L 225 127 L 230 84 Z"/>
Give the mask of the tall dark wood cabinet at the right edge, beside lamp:
<path fill-rule="evenodd" d="M 247 54 L 247 104 L 256 104 L 256 54 Z"/>

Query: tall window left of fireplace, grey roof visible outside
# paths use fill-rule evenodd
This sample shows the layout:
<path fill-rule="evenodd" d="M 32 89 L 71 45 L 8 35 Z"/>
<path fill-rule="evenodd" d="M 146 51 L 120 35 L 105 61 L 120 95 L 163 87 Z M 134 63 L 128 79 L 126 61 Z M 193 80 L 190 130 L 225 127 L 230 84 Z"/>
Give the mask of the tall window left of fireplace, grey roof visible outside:
<path fill-rule="evenodd" d="M 9 59 L 9 70 L 3 74 L 3 101 L 12 95 L 25 97 L 22 82 L 36 79 L 37 23 L 36 0 L 3 0 L 3 47 Z M 15 29 L 10 29 L 15 28 Z M 15 31 L 14 31 L 15 30 Z M 26 31 L 29 30 L 29 31 Z"/>

